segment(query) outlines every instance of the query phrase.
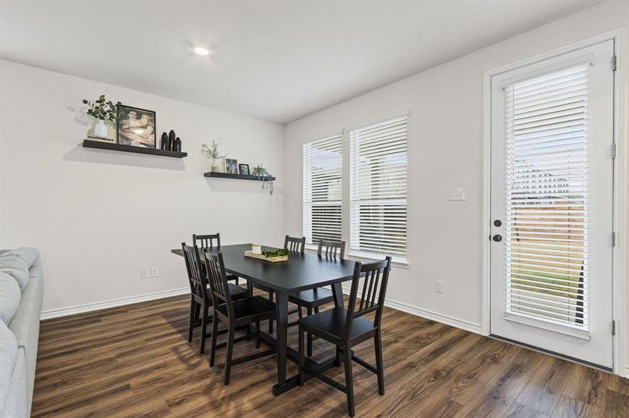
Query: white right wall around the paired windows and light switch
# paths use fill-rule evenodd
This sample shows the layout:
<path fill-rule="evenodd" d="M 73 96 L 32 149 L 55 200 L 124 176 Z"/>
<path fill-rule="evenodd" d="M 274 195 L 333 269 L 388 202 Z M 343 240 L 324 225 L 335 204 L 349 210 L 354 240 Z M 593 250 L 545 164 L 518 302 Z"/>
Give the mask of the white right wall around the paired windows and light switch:
<path fill-rule="evenodd" d="M 483 72 L 628 23 L 629 2 L 601 3 L 290 123 L 286 172 L 302 172 L 302 142 L 410 109 L 410 268 L 394 270 L 387 299 L 480 330 L 482 241 L 487 239 L 482 234 Z M 467 200 L 447 201 L 448 187 L 466 187 Z M 302 176 L 287 179 L 285 199 L 287 208 L 300 207 Z M 287 233 L 302 232 L 301 214 L 286 210 Z M 436 279 L 445 281 L 445 294 L 434 292 Z"/>

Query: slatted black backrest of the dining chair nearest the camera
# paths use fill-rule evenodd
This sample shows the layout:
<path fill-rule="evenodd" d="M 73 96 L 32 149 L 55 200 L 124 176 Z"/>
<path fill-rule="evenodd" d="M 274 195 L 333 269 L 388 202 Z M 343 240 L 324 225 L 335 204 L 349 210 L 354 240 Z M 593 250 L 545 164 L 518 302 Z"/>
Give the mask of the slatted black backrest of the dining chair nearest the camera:
<path fill-rule="evenodd" d="M 347 307 L 346 338 L 352 329 L 352 320 L 359 316 L 376 312 L 373 325 L 380 327 L 382 311 L 385 306 L 385 295 L 387 293 L 387 282 L 389 281 L 389 271 L 391 270 L 391 257 L 375 263 L 357 262 L 354 267 L 354 277 L 352 279 L 352 289 Z M 361 277 L 363 276 L 364 277 Z M 360 300 L 357 299 L 360 281 L 363 281 Z M 377 300 L 376 300 L 377 298 Z M 360 302 L 359 302 L 360 301 Z"/>

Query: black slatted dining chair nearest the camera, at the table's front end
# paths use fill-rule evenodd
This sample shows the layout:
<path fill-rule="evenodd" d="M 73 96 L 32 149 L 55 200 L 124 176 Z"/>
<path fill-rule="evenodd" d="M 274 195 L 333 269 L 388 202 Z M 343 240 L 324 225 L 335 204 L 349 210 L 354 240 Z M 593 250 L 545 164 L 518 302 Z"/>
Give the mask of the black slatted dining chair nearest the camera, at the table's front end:
<path fill-rule="evenodd" d="M 352 288 L 347 309 L 335 307 L 327 311 L 306 316 L 299 320 L 299 386 L 303 386 L 306 375 L 339 389 L 347 395 L 347 411 L 350 417 L 355 414 L 352 360 L 378 376 L 378 394 L 385 394 L 385 376 L 382 358 L 382 338 L 380 328 L 387 293 L 387 281 L 391 268 L 391 257 L 376 263 L 356 263 Z M 364 274 L 364 279 L 361 276 Z M 360 281 L 363 280 L 361 299 L 357 299 Z M 365 318 L 375 312 L 373 320 Z M 330 341 L 336 346 L 336 364 L 345 364 L 345 385 L 328 378 L 323 373 L 305 365 L 304 334 L 310 333 Z M 376 366 L 356 357 L 352 347 L 372 339 L 376 347 Z"/>

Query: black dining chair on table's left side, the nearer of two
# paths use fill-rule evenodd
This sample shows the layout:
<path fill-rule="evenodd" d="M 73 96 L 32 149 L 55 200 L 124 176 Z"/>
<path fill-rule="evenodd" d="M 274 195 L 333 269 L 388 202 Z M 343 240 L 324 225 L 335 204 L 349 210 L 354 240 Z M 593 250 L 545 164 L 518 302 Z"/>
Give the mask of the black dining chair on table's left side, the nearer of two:
<path fill-rule="evenodd" d="M 212 348 L 209 354 L 209 366 L 214 366 L 216 348 L 227 346 L 225 354 L 225 377 L 223 383 L 229 385 L 231 367 L 235 364 L 249 362 L 253 359 L 265 357 L 275 353 L 275 350 L 265 350 L 260 353 L 232 359 L 234 350 L 234 333 L 237 327 L 256 324 L 256 348 L 260 348 L 260 321 L 275 318 L 275 304 L 262 296 L 249 296 L 240 300 L 232 300 L 229 295 L 229 283 L 225 276 L 223 254 L 212 254 L 204 251 L 205 266 L 209 287 L 212 289 L 214 306 L 214 320 L 212 321 Z M 219 321 L 228 327 L 228 339 L 225 343 L 216 344 L 219 334 Z M 246 336 L 245 336 L 246 337 Z"/>

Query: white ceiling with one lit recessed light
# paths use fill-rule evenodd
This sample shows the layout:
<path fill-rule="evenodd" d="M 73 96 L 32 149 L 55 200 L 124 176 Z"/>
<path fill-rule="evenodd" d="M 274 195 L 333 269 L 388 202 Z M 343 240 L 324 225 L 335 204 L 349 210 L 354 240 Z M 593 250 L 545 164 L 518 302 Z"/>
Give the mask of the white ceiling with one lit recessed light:
<path fill-rule="evenodd" d="M 0 57 L 288 123 L 598 2 L 0 0 Z"/>

